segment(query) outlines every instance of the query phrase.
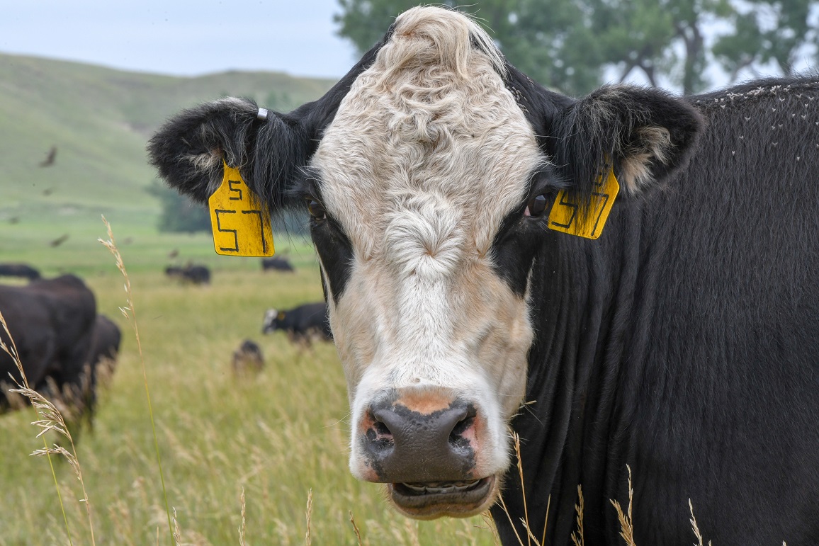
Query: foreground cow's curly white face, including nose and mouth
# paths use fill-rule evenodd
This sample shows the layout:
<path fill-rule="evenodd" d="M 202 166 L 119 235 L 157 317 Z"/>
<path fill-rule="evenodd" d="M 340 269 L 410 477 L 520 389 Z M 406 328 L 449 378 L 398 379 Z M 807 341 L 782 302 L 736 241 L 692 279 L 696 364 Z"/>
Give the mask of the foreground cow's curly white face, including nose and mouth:
<path fill-rule="evenodd" d="M 469 43 L 484 34 L 441 12 L 446 21 L 410 11 L 396 22 L 311 163 L 351 471 L 390 483 L 414 517 L 482 511 L 509 466 L 532 327 L 493 241 L 545 162 L 500 59 Z M 455 455 L 399 461 L 440 455 L 414 442 Z"/>

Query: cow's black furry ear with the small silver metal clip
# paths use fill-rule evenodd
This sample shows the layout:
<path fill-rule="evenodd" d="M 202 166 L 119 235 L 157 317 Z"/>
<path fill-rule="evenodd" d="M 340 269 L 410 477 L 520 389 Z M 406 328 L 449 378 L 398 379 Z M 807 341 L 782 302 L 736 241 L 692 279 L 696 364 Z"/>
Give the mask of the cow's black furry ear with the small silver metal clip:
<path fill-rule="evenodd" d="M 148 142 L 149 159 L 170 187 L 200 202 L 222 182 L 224 160 L 278 209 L 305 165 L 309 138 L 298 120 L 261 112 L 255 102 L 233 97 L 182 111 Z"/>

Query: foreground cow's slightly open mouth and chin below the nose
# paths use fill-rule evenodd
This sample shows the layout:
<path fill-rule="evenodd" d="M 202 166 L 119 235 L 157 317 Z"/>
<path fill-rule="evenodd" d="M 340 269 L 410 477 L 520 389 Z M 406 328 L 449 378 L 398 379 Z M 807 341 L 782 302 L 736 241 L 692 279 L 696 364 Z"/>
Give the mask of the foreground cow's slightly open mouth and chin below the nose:
<path fill-rule="evenodd" d="M 430 481 L 387 485 L 391 499 L 409 517 L 468 517 L 486 509 L 495 493 L 495 476 L 480 480 Z"/>

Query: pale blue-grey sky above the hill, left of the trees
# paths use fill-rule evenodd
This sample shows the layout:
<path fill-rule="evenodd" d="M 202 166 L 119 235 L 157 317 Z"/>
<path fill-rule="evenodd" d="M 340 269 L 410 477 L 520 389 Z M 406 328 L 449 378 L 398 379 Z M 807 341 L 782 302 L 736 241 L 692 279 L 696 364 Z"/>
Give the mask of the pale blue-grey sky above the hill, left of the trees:
<path fill-rule="evenodd" d="M 0 53 L 184 76 L 266 70 L 337 79 L 358 61 L 336 34 L 337 0 L 2 4 Z"/>

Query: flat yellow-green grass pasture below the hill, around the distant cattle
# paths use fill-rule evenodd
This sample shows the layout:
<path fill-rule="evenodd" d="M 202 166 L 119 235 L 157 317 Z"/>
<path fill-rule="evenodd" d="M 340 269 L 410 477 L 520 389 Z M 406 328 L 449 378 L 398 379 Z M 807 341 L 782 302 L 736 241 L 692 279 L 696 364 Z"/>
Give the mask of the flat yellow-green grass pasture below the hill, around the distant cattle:
<path fill-rule="evenodd" d="M 87 212 L 87 211 L 86 211 Z M 156 464 L 143 368 L 120 272 L 97 237 L 96 213 L 44 215 L 2 226 L 0 260 L 25 261 L 45 276 L 82 276 L 99 312 L 124 333 L 111 386 L 102 390 L 93 434 L 79 434 L 77 457 L 90 502 L 96 544 L 170 544 Z M 180 544 L 305 544 L 311 492 L 313 544 L 494 544 L 481 517 L 409 521 L 381 487 L 347 470 L 348 405 L 333 345 L 298 350 L 283 333 L 262 336 L 269 306 L 319 300 L 314 251 L 277 237 L 296 273 L 263 273 L 259 259 L 217 256 L 209 234 L 157 234 L 152 214 L 108 216 L 128 270 L 161 453 L 168 503 Z M 48 241 L 71 232 L 60 246 Z M 165 265 L 192 260 L 212 271 L 210 286 L 182 286 Z M 3 279 L 2 282 L 7 282 Z M 266 368 L 239 381 L 230 357 L 246 338 L 261 346 Z M 34 410 L 0 416 L 0 545 L 69 544 Z M 49 442 L 57 441 L 51 436 Z M 55 459 L 70 540 L 91 544 L 88 517 L 70 465 Z M 351 516 L 360 532 L 351 524 Z"/>

